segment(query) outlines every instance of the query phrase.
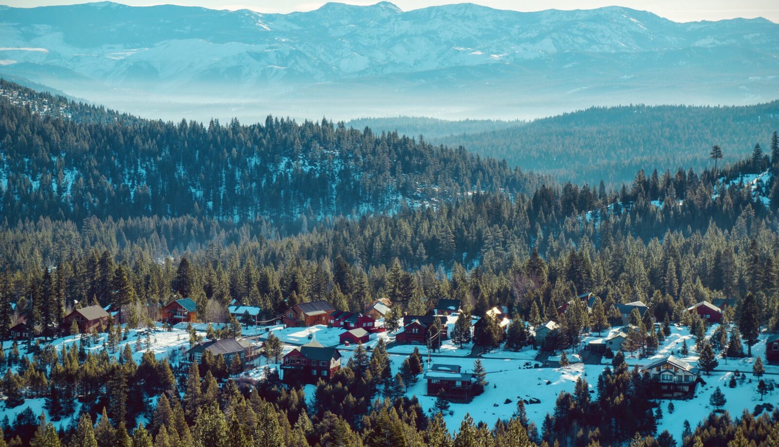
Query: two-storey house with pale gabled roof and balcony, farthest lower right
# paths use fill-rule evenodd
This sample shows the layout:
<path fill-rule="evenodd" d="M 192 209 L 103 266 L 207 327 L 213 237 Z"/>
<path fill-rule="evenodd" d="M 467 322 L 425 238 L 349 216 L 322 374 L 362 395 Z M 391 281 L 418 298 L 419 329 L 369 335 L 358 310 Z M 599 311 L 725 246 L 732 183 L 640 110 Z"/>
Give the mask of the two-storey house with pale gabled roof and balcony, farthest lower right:
<path fill-rule="evenodd" d="M 699 381 L 697 368 L 672 355 L 645 365 L 641 371 L 649 373 L 657 398 L 692 397 Z"/>

